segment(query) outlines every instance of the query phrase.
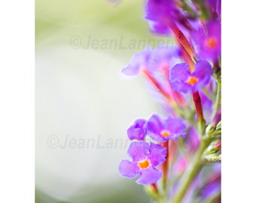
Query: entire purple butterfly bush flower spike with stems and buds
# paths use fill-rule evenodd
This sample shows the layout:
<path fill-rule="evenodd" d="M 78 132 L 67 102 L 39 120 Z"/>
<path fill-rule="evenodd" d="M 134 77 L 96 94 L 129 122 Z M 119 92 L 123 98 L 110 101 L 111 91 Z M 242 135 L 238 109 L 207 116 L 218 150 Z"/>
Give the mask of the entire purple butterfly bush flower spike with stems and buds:
<path fill-rule="evenodd" d="M 126 130 L 119 173 L 155 202 L 221 202 L 221 1 L 148 0 L 144 18 L 175 43 L 145 47 L 122 69 L 145 77 L 160 108 Z"/>

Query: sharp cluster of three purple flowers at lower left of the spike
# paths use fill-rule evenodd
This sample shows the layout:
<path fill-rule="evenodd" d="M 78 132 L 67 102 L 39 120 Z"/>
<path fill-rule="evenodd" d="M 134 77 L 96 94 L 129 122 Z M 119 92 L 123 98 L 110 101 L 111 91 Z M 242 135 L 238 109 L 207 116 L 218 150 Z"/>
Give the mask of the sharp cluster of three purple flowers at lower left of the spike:
<path fill-rule="evenodd" d="M 140 174 L 136 181 L 139 184 L 148 185 L 156 183 L 162 177 L 162 172 L 156 167 L 166 161 L 166 148 L 161 143 L 184 137 L 186 126 L 180 119 L 168 117 L 163 120 L 159 115 L 154 114 L 150 119 L 136 120 L 129 129 L 127 135 L 133 141 L 127 150 L 128 156 L 132 159 L 120 162 L 119 171 L 123 177 L 134 178 Z M 153 141 L 160 144 L 145 141 L 146 135 Z"/>

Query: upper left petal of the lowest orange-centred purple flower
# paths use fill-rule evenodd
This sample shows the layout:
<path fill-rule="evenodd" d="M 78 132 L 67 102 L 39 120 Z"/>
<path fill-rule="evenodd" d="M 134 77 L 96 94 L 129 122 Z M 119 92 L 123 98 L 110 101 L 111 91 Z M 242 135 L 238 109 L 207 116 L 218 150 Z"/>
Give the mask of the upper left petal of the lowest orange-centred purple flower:
<path fill-rule="evenodd" d="M 127 154 L 133 159 L 133 162 L 139 162 L 147 158 L 148 148 L 148 142 L 133 141 L 127 150 Z"/>

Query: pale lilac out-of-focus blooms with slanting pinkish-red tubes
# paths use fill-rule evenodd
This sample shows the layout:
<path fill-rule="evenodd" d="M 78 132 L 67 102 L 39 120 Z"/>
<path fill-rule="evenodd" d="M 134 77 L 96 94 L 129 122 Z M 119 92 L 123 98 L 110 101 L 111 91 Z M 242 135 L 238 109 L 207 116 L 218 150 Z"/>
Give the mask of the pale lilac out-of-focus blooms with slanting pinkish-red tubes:
<path fill-rule="evenodd" d="M 130 64 L 122 69 L 123 74 L 136 76 L 140 73 L 145 74 L 147 79 L 153 84 L 157 92 L 174 105 L 184 105 L 184 99 L 178 92 L 172 91 L 169 83 L 169 67 L 175 62 L 180 62 L 181 50 L 177 46 L 159 45 L 154 50 L 146 47 L 131 59 Z M 155 90 L 154 89 L 154 90 Z"/>

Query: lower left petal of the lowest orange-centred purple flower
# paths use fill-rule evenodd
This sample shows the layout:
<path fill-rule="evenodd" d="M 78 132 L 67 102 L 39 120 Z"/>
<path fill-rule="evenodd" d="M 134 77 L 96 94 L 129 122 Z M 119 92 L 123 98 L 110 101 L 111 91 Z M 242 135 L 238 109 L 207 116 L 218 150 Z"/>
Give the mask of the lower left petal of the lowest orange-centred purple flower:
<path fill-rule="evenodd" d="M 134 178 L 139 174 L 139 166 L 136 162 L 122 160 L 119 165 L 120 175 L 123 177 Z"/>

